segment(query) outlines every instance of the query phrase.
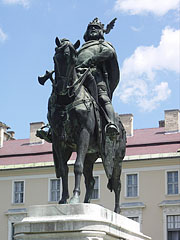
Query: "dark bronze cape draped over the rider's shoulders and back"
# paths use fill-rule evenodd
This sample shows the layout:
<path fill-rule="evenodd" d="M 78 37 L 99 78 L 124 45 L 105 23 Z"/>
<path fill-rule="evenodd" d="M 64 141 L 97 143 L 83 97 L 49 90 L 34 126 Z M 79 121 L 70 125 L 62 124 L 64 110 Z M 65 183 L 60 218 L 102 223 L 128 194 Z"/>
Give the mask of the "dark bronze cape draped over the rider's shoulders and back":
<path fill-rule="evenodd" d="M 106 42 L 104 40 L 88 41 L 82 45 L 79 52 L 83 51 L 84 49 L 86 49 L 88 47 L 96 46 L 96 45 L 100 45 L 100 44 L 102 44 L 102 46 L 104 46 L 104 47 L 111 49 L 112 52 L 114 53 L 112 58 L 108 58 L 104 62 L 106 72 L 108 73 L 108 77 L 107 77 L 108 82 L 106 82 L 106 84 L 108 85 L 107 87 L 109 88 L 109 97 L 110 97 L 110 99 L 112 99 L 113 92 L 114 92 L 115 88 L 117 87 L 117 85 L 119 83 L 119 79 L 120 79 L 120 71 L 119 71 L 119 65 L 118 65 L 118 61 L 117 61 L 117 55 L 116 55 L 115 49 L 112 46 L 112 44 L 109 42 Z"/>

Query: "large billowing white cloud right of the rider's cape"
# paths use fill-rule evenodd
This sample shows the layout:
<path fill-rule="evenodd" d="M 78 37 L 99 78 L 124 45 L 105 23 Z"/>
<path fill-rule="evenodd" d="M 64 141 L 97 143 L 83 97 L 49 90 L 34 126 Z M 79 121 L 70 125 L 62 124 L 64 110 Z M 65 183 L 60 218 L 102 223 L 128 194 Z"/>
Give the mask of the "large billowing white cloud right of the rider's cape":
<path fill-rule="evenodd" d="M 124 60 L 115 95 L 125 102 L 135 102 L 151 111 L 171 94 L 168 83 L 158 82 L 162 71 L 180 72 L 180 30 L 165 28 L 157 47 L 140 46 Z"/>

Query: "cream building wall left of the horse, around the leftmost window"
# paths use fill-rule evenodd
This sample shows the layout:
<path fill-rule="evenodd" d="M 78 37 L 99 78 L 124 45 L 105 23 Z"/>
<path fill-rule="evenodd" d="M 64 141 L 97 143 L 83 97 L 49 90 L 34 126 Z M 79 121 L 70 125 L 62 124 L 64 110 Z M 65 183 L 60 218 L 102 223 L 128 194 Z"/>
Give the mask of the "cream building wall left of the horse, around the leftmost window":
<path fill-rule="evenodd" d="M 43 175 L 54 176 L 54 168 L 21 169 L 1 171 L 0 174 L 0 239 L 8 239 L 8 209 L 27 208 L 34 204 L 48 204 L 48 179 Z M 36 178 L 38 177 L 38 178 Z M 13 181 L 25 180 L 25 202 L 12 203 Z"/>

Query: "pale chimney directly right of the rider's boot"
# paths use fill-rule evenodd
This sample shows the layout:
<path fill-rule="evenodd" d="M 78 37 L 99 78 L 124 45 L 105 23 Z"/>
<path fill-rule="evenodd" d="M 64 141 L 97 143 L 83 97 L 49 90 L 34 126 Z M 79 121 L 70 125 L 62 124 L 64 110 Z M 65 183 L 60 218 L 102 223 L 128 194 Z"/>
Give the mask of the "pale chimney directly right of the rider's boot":
<path fill-rule="evenodd" d="M 126 135 L 133 136 L 133 114 L 120 114 L 119 116 L 126 130 Z"/>

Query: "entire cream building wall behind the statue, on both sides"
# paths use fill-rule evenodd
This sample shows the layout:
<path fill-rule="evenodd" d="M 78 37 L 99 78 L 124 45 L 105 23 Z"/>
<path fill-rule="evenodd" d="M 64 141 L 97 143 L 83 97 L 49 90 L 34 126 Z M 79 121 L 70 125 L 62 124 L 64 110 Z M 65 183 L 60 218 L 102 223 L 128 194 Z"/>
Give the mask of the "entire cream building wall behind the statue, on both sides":
<path fill-rule="evenodd" d="M 143 202 L 142 232 L 152 236 L 153 240 L 164 240 L 162 236 L 162 209 L 158 206 L 163 200 L 177 200 L 178 196 L 165 195 L 166 169 L 172 166 L 180 166 L 180 159 L 124 161 L 122 173 L 121 203 Z M 139 197 L 125 197 L 126 173 L 139 174 Z M 107 178 L 102 164 L 94 166 L 94 175 L 100 176 L 100 199 L 92 200 L 92 203 L 100 204 L 108 209 L 114 209 L 114 193 L 107 189 Z M 48 202 L 48 178 L 55 178 L 54 167 L 32 168 L 21 170 L 1 171 L 0 174 L 0 235 L 7 239 L 7 216 L 4 214 L 8 209 L 27 208 L 29 205 L 51 204 Z M 12 204 L 12 181 L 25 180 L 25 203 Z M 74 187 L 73 166 L 69 167 L 69 193 L 72 196 Z M 81 202 L 85 195 L 84 179 L 81 182 Z"/>

